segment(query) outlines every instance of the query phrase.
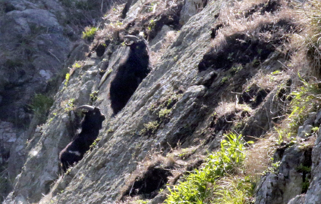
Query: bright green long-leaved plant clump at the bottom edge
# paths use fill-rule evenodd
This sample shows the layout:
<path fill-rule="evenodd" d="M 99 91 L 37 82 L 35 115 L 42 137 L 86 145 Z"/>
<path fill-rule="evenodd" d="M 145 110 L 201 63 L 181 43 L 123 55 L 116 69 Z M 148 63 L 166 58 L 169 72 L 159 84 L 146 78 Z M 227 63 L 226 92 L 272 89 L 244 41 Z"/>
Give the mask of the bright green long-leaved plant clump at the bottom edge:
<path fill-rule="evenodd" d="M 178 185 L 169 188 L 170 194 L 165 203 L 204 203 L 214 201 L 218 180 L 233 174 L 245 159 L 245 141 L 234 133 L 225 135 L 221 150 L 208 155 L 199 170 L 185 175 Z M 252 143 L 252 142 L 251 142 Z"/>

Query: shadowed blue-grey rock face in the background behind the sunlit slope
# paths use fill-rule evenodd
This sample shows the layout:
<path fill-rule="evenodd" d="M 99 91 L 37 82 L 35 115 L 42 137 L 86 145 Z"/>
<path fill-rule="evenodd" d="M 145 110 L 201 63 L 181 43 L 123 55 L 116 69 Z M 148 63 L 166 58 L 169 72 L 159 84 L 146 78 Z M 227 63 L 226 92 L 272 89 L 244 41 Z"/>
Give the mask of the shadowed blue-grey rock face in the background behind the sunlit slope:
<path fill-rule="evenodd" d="M 80 39 L 83 27 L 95 25 L 95 18 L 110 7 L 101 1 L 90 4 L 89 10 L 86 1 L 0 2 L 0 170 L 4 172 L 0 202 L 12 188 L 11 180 L 21 172 L 34 142 L 38 142 L 40 129 L 35 133 L 35 128 L 41 120 L 33 117 L 29 106 L 35 94 L 50 95 L 59 88 L 57 82 L 61 83 L 66 74 L 64 65 L 66 70 L 88 52 L 86 42 L 73 42 Z M 73 15 L 78 16 L 71 18 Z M 82 28 L 77 27 L 80 24 Z M 92 85 L 83 86 L 87 98 L 87 87 Z"/>

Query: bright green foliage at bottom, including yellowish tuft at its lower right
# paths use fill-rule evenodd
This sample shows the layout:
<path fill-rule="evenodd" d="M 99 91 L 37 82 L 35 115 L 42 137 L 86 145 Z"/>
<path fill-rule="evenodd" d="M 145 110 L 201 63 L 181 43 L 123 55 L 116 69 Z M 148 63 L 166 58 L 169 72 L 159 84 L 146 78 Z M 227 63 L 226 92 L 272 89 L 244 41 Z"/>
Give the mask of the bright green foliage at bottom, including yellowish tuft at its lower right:
<path fill-rule="evenodd" d="M 170 194 L 165 203 L 243 203 L 251 195 L 252 188 L 248 187 L 248 181 L 238 181 L 242 185 L 230 181 L 235 191 L 231 191 L 224 182 L 238 174 L 246 156 L 246 142 L 241 135 L 230 133 L 225 136 L 220 151 L 208 155 L 199 170 L 184 176 L 185 181 L 173 186 L 173 189 L 168 188 Z"/>

